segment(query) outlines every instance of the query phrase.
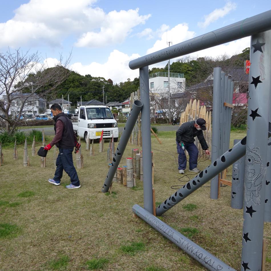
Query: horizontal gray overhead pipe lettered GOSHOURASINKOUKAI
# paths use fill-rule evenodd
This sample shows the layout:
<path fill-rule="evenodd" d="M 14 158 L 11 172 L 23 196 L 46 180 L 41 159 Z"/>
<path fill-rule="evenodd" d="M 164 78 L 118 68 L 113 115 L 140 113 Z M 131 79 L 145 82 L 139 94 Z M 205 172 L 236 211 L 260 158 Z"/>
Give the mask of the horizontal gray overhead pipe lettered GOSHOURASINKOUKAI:
<path fill-rule="evenodd" d="M 184 56 L 199 50 L 248 37 L 269 29 L 271 29 L 271 10 L 131 60 L 129 67 L 135 70 L 164 60 Z"/>

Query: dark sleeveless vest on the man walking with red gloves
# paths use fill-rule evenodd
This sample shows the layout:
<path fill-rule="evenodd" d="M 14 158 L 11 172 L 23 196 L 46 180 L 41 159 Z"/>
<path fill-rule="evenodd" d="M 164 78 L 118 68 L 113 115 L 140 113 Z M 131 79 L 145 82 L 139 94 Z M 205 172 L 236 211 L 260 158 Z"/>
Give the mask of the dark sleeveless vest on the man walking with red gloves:
<path fill-rule="evenodd" d="M 54 132 L 56 132 L 56 122 L 61 120 L 64 124 L 63 134 L 60 141 L 56 143 L 56 146 L 61 149 L 70 149 L 75 145 L 75 135 L 72 126 L 72 122 L 65 116 L 65 114 L 59 113 L 54 117 Z"/>

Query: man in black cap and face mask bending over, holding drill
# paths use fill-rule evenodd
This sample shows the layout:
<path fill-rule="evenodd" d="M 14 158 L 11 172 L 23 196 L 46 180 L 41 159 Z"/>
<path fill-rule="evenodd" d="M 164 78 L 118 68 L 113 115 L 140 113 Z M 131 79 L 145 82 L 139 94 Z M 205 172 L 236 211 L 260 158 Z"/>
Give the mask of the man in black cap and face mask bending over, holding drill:
<path fill-rule="evenodd" d="M 178 153 L 178 164 L 179 164 L 179 173 L 184 174 L 186 169 L 186 155 L 185 149 L 189 154 L 189 171 L 199 173 L 197 169 L 197 160 L 199 151 L 194 144 L 194 137 L 197 136 L 201 147 L 205 150 L 207 155 L 210 155 L 208 150 L 208 145 L 203 136 L 202 130 L 206 130 L 206 121 L 202 118 L 197 119 L 196 121 L 185 122 L 176 132 L 176 143 L 177 143 L 177 153 Z"/>

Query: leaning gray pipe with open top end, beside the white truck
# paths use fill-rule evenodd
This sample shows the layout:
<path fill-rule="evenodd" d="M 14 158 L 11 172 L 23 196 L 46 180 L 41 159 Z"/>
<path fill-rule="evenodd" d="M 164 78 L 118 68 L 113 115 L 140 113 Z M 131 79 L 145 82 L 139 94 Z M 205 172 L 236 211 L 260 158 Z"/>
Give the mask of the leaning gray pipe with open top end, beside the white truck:
<path fill-rule="evenodd" d="M 129 115 L 127 122 L 125 124 L 122 136 L 120 137 L 120 142 L 119 142 L 118 147 L 115 151 L 113 161 L 112 161 L 112 166 L 109 168 L 106 179 L 104 181 L 104 185 L 102 187 L 102 192 L 104 192 L 104 193 L 108 192 L 109 187 L 113 181 L 113 177 L 114 177 L 115 173 L 117 172 L 118 165 L 119 165 L 120 160 L 122 158 L 122 155 L 125 151 L 128 140 L 130 139 L 130 135 L 131 135 L 132 130 L 136 124 L 137 117 L 140 113 L 142 106 L 143 106 L 143 104 L 139 100 L 136 100 L 133 104 L 130 115 Z"/>

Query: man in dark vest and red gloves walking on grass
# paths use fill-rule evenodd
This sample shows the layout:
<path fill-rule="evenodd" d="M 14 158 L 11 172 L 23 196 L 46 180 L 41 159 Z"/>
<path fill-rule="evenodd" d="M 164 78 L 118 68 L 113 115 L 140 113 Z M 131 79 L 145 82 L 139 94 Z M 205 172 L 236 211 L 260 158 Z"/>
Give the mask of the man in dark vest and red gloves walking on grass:
<path fill-rule="evenodd" d="M 59 104 L 53 104 L 50 109 L 55 121 L 55 136 L 45 149 L 49 150 L 53 145 L 56 145 L 59 149 L 59 154 L 56 159 L 56 172 L 54 173 L 54 178 L 49 179 L 48 181 L 54 185 L 60 185 L 64 169 L 64 171 L 69 175 L 71 181 L 70 185 L 66 185 L 66 188 L 79 188 L 81 186 L 76 169 L 73 165 L 72 152 L 74 146 L 79 150 L 80 144 L 77 142 L 72 122 L 62 112 Z"/>

